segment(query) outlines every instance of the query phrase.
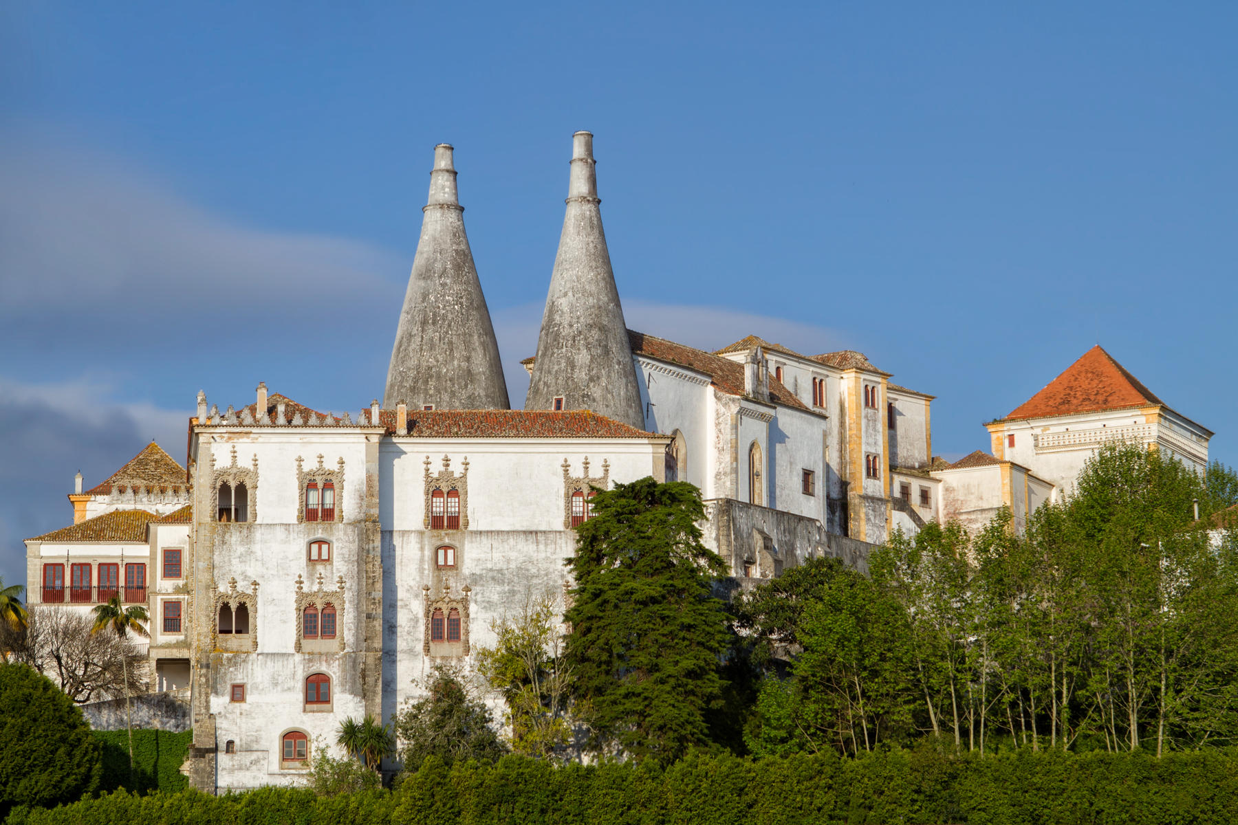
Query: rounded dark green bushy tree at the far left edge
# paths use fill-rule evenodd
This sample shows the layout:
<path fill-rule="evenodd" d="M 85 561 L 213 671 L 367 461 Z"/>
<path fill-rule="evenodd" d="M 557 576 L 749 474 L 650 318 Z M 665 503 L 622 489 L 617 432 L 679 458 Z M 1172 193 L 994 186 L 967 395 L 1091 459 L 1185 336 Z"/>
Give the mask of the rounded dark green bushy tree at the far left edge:
<path fill-rule="evenodd" d="M 99 743 L 51 679 L 0 664 L 0 816 L 14 805 L 56 805 L 93 792 Z"/>

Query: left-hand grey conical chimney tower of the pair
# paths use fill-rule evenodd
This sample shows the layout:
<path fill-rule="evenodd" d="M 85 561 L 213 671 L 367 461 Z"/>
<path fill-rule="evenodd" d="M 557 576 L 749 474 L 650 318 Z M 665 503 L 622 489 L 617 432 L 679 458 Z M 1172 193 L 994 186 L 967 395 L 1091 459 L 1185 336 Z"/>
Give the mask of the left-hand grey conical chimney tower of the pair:
<path fill-rule="evenodd" d="M 435 147 L 421 240 L 391 348 L 383 406 L 510 409 L 499 344 L 464 234 L 452 147 Z"/>

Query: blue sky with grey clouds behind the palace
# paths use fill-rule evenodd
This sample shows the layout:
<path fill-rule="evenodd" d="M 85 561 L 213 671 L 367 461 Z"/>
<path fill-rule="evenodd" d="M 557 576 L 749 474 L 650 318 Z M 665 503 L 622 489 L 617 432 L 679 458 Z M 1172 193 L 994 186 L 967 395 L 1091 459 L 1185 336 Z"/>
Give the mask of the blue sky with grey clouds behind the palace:
<path fill-rule="evenodd" d="M 571 134 L 629 324 L 858 349 L 936 453 L 1092 344 L 1238 461 L 1233 4 L 0 5 L 0 576 L 203 388 L 381 395 L 432 147 L 526 381 Z"/>

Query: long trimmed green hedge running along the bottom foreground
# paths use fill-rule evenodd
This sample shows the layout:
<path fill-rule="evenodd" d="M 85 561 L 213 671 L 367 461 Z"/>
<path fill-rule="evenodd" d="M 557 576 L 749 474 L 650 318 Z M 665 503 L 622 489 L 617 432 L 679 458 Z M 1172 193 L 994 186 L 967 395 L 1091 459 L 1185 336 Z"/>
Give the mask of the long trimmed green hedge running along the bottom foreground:
<path fill-rule="evenodd" d="M 928 748 L 858 758 L 753 761 L 691 756 L 665 769 L 555 767 L 524 757 L 446 766 L 430 758 L 394 792 L 319 798 L 264 788 L 106 794 L 11 825 L 1186 825 L 1238 821 L 1238 751 L 945 756 Z"/>

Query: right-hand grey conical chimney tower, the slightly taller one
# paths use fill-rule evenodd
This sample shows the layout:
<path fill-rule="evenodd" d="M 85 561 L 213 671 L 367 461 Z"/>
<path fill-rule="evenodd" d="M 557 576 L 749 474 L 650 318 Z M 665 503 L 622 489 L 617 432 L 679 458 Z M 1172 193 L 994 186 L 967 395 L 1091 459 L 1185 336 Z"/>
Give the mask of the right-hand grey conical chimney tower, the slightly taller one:
<path fill-rule="evenodd" d="M 592 409 L 645 429 L 628 327 L 610 270 L 593 135 L 572 136 L 567 214 L 550 277 L 525 409 Z"/>

